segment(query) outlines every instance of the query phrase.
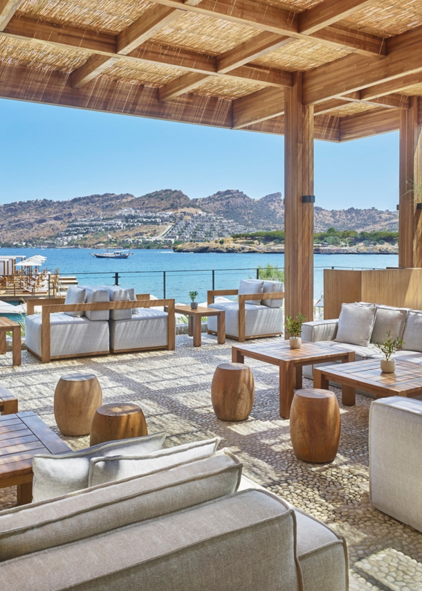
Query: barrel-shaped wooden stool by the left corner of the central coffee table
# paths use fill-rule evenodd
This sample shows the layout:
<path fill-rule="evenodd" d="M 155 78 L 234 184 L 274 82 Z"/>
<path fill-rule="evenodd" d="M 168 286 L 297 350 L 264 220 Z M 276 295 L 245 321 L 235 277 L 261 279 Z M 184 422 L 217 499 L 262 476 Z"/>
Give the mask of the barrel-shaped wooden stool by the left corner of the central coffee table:
<path fill-rule="evenodd" d="M 212 408 L 223 421 L 244 421 L 253 407 L 255 384 L 248 365 L 221 363 L 211 384 Z"/>

